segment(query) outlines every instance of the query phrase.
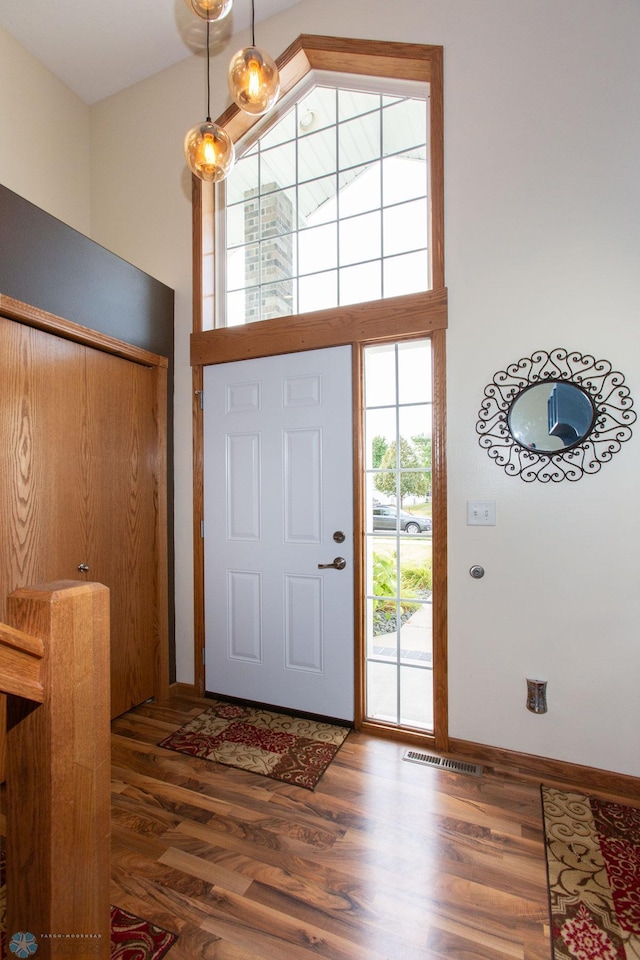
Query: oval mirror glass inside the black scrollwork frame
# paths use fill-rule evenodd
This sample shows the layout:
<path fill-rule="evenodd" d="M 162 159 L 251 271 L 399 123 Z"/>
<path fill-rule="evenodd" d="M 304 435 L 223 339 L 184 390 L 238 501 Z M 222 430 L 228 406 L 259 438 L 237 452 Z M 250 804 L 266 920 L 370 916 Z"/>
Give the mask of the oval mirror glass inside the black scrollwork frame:
<path fill-rule="evenodd" d="M 508 424 L 521 446 L 554 453 L 588 437 L 595 414 L 591 398 L 580 387 L 549 380 L 518 394 L 509 409 Z"/>

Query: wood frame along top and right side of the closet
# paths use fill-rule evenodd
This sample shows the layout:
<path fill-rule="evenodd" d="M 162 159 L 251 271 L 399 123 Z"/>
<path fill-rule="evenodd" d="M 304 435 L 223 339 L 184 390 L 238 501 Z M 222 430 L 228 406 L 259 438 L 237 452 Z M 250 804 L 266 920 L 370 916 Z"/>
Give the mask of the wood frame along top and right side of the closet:
<path fill-rule="evenodd" d="M 154 697 L 165 700 L 169 696 L 169 553 L 167 535 L 167 374 L 169 361 L 166 357 L 151 353 L 142 347 L 118 340 L 108 334 L 83 327 L 71 320 L 40 310 L 13 297 L 0 293 L 0 316 L 8 320 L 35 327 L 45 333 L 72 340 L 103 353 L 109 353 L 133 363 L 149 367 L 153 374 L 154 408 L 156 425 L 156 470 L 154 530 L 155 565 L 155 662 Z"/>

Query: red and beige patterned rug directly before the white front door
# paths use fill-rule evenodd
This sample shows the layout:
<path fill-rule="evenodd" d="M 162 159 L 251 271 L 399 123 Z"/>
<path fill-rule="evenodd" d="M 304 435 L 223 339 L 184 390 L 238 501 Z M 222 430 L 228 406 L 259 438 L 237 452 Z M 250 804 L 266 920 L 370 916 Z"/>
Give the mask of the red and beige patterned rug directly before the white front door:
<path fill-rule="evenodd" d="M 348 727 L 212 700 L 159 746 L 313 790 Z"/>

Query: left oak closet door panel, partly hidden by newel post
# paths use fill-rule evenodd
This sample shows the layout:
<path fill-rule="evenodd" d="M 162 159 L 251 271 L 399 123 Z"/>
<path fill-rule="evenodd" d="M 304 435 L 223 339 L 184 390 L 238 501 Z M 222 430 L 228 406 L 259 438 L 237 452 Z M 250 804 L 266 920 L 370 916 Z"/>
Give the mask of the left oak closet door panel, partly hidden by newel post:
<path fill-rule="evenodd" d="M 0 620 L 17 587 L 78 580 L 85 348 L 0 317 Z"/>

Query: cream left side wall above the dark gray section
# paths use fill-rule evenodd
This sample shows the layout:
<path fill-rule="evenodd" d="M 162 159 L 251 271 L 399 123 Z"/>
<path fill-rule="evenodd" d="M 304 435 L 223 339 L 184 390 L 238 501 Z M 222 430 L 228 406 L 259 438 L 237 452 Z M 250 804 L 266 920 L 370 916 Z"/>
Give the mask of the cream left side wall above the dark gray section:
<path fill-rule="evenodd" d="M 89 233 L 89 107 L 2 28 L 0 183 Z"/>

